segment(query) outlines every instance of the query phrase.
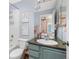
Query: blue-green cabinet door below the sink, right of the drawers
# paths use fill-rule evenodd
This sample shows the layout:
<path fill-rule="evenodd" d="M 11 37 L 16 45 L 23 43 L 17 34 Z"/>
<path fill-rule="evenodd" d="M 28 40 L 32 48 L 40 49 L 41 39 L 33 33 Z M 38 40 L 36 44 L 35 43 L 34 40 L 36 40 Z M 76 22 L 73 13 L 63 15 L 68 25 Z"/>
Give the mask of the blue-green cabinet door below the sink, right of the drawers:
<path fill-rule="evenodd" d="M 66 59 L 65 54 L 52 50 L 43 50 L 42 59 Z"/>

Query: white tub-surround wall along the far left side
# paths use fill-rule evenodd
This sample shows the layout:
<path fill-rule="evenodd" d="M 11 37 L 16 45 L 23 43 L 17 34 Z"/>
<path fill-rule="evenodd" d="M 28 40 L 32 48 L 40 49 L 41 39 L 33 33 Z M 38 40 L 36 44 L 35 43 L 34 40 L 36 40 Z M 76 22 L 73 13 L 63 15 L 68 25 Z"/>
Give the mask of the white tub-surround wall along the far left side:
<path fill-rule="evenodd" d="M 12 19 L 9 19 L 9 21 L 13 21 L 14 24 L 9 23 L 9 42 L 10 47 L 12 45 L 17 45 L 17 39 L 19 38 L 19 10 L 18 9 L 10 9 L 10 12 L 12 12 Z M 13 38 L 11 37 L 13 35 Z"/>

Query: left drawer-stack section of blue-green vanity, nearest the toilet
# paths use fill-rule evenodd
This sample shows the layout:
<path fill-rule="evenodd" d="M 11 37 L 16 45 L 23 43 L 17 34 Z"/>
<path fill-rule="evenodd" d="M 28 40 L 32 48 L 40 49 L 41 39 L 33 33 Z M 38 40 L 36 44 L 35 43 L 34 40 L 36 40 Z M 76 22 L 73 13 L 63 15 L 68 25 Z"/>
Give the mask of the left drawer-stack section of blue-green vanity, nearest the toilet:
<path fill-rule="evenodd" d="M 29 44 L 29 59 L 40 58 L 40 47 L 38 45 Z"/>

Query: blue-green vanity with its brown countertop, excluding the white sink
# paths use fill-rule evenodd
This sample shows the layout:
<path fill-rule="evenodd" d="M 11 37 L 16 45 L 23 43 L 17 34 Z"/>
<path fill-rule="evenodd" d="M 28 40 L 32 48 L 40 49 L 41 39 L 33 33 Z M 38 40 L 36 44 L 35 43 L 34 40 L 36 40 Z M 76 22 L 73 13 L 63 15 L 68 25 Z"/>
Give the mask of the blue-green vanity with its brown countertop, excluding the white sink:
<path fill-rule="evenodd" d="M 29 41 L 29 59 L 66 59 L 66 46 L 62 41 L 58 45 L 43 45 L 36 40 Z"/>

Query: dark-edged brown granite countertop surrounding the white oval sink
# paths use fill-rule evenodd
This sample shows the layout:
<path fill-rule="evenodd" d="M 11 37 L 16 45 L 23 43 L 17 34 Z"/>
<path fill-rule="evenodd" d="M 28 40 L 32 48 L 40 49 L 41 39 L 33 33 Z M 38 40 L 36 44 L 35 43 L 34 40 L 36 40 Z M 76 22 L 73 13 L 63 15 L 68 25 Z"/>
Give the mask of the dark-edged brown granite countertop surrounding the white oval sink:
<path fill-rule="evenodd" d="M 63 42 L 63 41 L 61 41 L 61 40 L 59 40 L 59 39 L 57 40 L 58 45 L 52 45 L 52 46 L 40 44 L 40 43 L 36 42 L 36 40 L 37 40 L 37 39 L 34 38 L 34 39 L 32 39 L 31 41 L 29 41 L 28 43 L 66 51 L 65 42 Z"/>

